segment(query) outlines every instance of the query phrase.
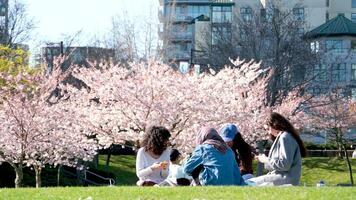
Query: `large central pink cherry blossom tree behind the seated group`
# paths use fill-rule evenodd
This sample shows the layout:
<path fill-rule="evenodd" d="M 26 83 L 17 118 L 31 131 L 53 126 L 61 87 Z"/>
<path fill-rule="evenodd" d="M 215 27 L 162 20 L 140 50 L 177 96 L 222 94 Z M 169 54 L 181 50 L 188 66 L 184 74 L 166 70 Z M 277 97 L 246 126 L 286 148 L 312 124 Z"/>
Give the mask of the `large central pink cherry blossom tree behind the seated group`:
<path fill-rule="evenodd" d="M 237 123 L 255 141 L 265 132 L 267 113 L 278 107 L 265 103 L 269 69 L 252 61 L 236 60 L 218 73 L 199 75 L 148 62 L 80 68 L 73 76 L 89 89 L 66 88 L 76 102 L 72 109 L 106 146 L 140 140 L 157 124 L 169 128 L 173 144 L 185 152 L 191 151 L 193 135 L 203 125 Z"/>

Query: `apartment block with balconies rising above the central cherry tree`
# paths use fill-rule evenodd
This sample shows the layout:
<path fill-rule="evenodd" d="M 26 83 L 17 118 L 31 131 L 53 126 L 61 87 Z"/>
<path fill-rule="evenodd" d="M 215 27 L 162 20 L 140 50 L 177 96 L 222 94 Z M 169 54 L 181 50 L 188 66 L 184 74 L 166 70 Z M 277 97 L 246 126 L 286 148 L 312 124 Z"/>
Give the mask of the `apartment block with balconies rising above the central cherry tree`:
<path fill-rule="evenodd" d="M 216 44 L 214 31 L 231 35 L 233 0 L 160 0 L 159 36 L 164 60 L 199 63 Z"/>

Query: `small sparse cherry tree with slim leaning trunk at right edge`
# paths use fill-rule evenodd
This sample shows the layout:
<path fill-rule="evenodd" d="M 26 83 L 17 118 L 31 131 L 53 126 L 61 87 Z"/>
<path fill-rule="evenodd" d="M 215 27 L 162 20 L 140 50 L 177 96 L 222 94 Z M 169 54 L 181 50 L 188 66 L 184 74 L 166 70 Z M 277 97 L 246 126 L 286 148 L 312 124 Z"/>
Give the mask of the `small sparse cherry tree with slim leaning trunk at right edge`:
<path fill-rule="evenodd" d="M 345 133 L 355 128 L 355 105 L 352 98 L 344 96 L 342 91 L 336 88 L 329 95 L 314 98 L 305 105 L 304 112 L 300 115 L 306 131 L 325 131 L 329 138 L 336 142 L 340 157 L 346 159 L 352 185 L 352 168 L 347 154 Z"/>

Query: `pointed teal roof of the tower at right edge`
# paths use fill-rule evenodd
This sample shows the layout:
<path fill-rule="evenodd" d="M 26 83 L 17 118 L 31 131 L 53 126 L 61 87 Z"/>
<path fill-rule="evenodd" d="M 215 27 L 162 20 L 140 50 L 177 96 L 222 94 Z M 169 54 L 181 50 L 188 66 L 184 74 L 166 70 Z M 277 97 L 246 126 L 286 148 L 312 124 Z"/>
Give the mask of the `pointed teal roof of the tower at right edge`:
<path fill-rule="evenodd" d="M 330 36 L 356 36 L 356 23 L 343 15 L 338 15 L 306 33 L 307 38 Z"/>

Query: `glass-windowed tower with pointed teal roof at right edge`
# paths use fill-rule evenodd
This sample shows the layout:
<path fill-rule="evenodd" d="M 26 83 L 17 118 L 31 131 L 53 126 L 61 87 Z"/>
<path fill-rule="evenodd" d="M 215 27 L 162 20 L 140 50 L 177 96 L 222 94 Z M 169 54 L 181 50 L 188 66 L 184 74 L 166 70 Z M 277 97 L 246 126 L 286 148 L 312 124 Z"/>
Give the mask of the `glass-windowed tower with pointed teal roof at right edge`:
<path fill-rule="evenodd" d="M 356 23 L 340 13 L 309 31 L 306 38 L 311 50 L 321 55 L 320 63 L 307 73 L 308 78 L 315 77 L 309 92 L 326 94 L 339 87 L 344 95 L 356 99 Z"/>

